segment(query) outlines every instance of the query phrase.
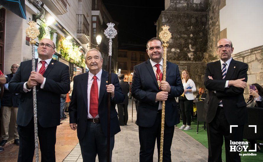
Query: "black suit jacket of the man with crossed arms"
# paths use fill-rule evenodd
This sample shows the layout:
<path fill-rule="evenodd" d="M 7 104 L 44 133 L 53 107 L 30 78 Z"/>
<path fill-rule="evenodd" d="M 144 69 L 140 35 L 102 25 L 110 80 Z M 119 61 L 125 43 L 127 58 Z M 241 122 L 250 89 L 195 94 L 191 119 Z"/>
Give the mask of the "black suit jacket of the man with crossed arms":
<path fill-rule="evenodd" d="M 225 117 L 230 125 L 244 125 L 247 122 L 244 90 L 234 86 L 225 88 L 226 80 L 245 78 L 243 81 L 247 82 L 247 70 L 248 65 L 246 63 L 232 58 L 225 80 L 222 80 L 220 60 L 207 64 L 204 73 L 204 85 L 208 90 L 207 97 L 204 100 L 204 118 L 207 123 L 214 119 L 220 100 L 222 100 Z M 209 79 L 208 76 L 212 76 L 213 80 Z"/>

